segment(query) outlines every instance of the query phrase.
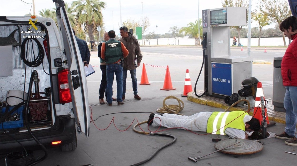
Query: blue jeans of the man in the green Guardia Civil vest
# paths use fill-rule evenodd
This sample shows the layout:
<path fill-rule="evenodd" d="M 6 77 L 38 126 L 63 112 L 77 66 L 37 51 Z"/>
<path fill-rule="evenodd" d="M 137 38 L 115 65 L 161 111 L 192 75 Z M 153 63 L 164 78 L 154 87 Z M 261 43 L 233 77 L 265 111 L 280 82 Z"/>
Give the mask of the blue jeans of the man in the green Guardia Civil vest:
<path fill-rule="evenodd" d="M 122 102 L 122 92 L 123 92 L 123 67 L 122 64 L 107 64 L 106 65 L 106 81 L 107 81 L 107 102 L 112 103 L 112 84 L 114 74 L 116 74 L 116 98 L 118 102 Z"/>

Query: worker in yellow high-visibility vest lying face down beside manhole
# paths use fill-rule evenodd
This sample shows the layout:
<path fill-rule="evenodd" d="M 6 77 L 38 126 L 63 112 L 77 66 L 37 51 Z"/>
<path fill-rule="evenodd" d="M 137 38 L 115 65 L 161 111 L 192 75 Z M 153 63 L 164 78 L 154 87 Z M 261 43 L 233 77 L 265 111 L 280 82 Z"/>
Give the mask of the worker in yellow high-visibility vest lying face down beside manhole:
<path fill-rule="evenodd" d="M 151 113 L 147 122 L 155 127 L 168 127 L 228 135 L 232 138 L 247 139 L 254 131 L 260 129 L 258 119 L 244 111 L 232 112 L 200 112 L 192 116 L 164 113 Z"/>

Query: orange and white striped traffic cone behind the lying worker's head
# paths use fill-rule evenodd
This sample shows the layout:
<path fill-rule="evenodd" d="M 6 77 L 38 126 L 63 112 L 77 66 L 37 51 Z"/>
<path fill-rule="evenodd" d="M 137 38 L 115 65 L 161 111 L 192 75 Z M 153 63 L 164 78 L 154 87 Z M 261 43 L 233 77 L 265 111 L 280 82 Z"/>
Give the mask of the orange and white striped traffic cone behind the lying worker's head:
<path fill-rule="evenodd" d="M 260 125 L 261 125 L 261 121 L 263 121 L 262 106 L 261 106 L 261 101 L 260 101 L 261 96 L 264 97 L 263 87 L 262 87 L 262 83 L 258 82 L 253 117 L 257 118 L 260 121 Z M 267 109 L 266 109 L 266 106 L 265 106 L 265 97 L 264 97 L 264 108 L 265 108 L 265 117 L 266 117 L 265 119 L 267 121 L 267 124 L 269 124 L 269 120 L 268 120 L 268 116 L 267 116 Z"/>

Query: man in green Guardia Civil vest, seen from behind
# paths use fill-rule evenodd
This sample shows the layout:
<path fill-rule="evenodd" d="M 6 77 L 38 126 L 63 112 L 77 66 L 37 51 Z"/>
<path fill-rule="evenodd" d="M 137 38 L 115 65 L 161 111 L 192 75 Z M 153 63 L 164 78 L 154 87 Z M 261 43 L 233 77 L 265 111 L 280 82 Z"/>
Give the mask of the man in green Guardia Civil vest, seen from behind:
<path fill-rule="evenodd" d="M 124 44 L 115 39 L 116 33 L 111 30 L 108 31 L 108 41 L 102 43 L 101 58 L 106 62 L 106 81 L 107 81 L 107 103 L 108 106 L 112 105 L 112 85 L 113 78 L 116 75 L 116 98 L 118 105 L 123 105 L 122 92 L 123 92 L 123 59 L 128 56 L 129 51 Z"/>

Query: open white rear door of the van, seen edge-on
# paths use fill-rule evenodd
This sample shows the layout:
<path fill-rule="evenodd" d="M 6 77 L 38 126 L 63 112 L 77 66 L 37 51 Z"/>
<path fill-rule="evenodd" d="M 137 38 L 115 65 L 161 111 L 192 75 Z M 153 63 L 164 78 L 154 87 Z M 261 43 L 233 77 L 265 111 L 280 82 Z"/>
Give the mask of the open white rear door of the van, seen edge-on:
<path fill-rule="evenodd" d="M 68 20 L 64 1 L 53 0 L 56 4 L 58 30 L 61 43 L 69 67 L 69 88 L 72 97 L 73 113 L 78 125 L 78 132 L 83 132 L 86 137 L 90 132 L 90 111 L 86 73 L 80 51 Z"/>

